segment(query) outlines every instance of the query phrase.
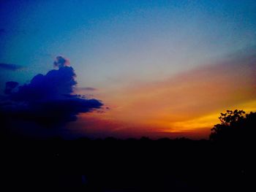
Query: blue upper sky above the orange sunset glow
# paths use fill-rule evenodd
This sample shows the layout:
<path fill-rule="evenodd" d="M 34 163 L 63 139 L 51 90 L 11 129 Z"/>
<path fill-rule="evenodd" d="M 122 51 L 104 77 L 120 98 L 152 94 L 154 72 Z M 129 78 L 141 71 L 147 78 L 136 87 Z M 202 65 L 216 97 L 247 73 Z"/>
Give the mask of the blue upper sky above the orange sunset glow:
<path fill-rule="evenodd" d="M 1 1 L 0 61 L 26 66 L 13 77 L 22 81 L 47 72 L 60 54 L 82 84 L 156 80 L 254 46 L 255 8 L 255 1 Z"/>

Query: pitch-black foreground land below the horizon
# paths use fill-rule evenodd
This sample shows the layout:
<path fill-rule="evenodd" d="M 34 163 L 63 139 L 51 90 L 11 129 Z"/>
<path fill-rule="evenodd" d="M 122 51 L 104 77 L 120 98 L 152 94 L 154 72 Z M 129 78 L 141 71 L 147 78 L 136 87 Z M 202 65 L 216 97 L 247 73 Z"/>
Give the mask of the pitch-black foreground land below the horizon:
<path fill-rule="evenodd" d="M 255 191 L 250 142 L 5 139 L 1 148 L 4 191 Z"/>

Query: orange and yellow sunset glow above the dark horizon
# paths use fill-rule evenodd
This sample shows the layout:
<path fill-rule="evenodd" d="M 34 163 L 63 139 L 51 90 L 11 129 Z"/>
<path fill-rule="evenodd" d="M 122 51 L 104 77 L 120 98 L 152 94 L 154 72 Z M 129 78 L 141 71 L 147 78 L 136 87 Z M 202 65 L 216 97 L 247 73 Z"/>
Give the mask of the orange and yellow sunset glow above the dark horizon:
<path fill-rule="evenodd" d="M 225 110 L 256 111 L 254 66 L 215 64 L 161 82 L 137 82 L 95 93 L 110 110 L 81 115 L 108 135 L 208 138 Z M 92 125 L 91 125 L 92 126 Z M 104 128 L 106 127 L 106 128 Z"/>

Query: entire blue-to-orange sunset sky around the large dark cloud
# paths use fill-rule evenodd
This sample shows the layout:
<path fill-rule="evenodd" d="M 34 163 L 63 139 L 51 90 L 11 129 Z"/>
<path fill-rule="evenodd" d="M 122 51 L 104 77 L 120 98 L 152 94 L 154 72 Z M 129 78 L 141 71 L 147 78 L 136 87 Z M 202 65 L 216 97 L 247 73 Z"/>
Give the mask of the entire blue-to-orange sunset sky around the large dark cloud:
<path fill-rule="evenodd" d="M 69 109 L 76 119 L 58 131 L 24 133 L 208 138 L 220 112 L 256 111 L 255 9 L 248 0 L 1 1 L 1 98 L 7 81 L 32 86 L 62 70 L 61 56 L 75 71 L 68 94 L 99 103 Z"/>

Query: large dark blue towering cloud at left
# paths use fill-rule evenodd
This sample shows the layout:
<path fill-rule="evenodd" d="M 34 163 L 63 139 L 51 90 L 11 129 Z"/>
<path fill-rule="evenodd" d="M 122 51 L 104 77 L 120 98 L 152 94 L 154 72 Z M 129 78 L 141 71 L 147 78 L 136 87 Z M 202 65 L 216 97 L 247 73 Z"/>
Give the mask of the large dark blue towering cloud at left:
<path fill-rule="evenodd" d="M 57 57 L 59 69 L 37 74 L 29 84 L 6 82 L 7 97 L 1 99 L 0 113 L 11 120 L 25 120 L 44 126 L 61 125 L 76 120 L 80 112 L 91 112 L 102 107 L 97 99 L 73 94 L 75 71 L 67 60 Z"/>

